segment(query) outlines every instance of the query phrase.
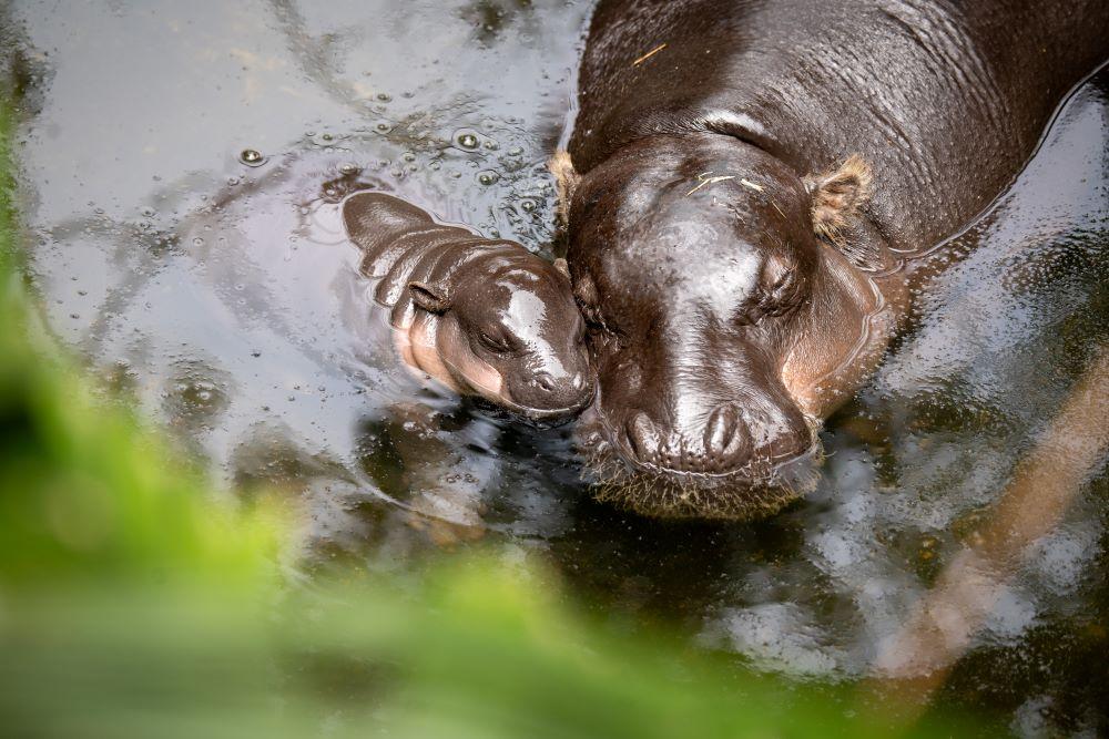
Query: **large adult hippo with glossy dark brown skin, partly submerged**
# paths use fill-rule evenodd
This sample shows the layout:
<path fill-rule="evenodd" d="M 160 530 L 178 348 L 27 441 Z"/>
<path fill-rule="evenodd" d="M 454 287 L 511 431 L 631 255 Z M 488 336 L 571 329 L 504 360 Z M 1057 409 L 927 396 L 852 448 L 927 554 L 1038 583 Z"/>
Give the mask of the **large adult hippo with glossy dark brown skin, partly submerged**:
<path fill-rule="evenodd" d="M 905 316 L 919 256 L 1109 57 L 1109 3 L 602 0 L 566 194 L 601 499 L 743 519 Z"/>

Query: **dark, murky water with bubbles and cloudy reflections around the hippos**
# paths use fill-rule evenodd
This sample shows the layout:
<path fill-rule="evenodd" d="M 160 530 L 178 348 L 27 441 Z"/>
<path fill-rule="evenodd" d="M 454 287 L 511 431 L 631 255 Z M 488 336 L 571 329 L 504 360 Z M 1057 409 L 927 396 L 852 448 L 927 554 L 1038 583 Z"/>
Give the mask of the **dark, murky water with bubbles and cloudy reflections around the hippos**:
<path fill-rule="evenodd" d="M 1109 341 L 1109 74 L 925 287 L 830 422 L 818 490 L 754 525 L 592 503 L 566 429 L 398 367 L 324 184 L 362 179 L 549 250 L 543 162 L 588 3 L 0 3 L 51 329 L 226 482 L 301 496 L 312 554 L 403 568 L 479 537 L 602 613 L 794 676 L 863 674 Z M 6 16 L 7 14 L 7 16 Z M 262 152 L 262 166 L 240 162 Z M 344 168 L 345 167 L 345 168 Z M 1109 475 L 1035 546 L 942 700 L 1109 732 Z"/>

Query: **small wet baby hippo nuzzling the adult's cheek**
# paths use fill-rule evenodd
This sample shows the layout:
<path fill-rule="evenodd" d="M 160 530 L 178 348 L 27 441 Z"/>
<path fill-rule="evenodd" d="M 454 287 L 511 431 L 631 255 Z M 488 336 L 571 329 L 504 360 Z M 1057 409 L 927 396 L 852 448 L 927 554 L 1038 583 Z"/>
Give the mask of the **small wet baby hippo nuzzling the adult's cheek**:
<path fill-rule="evenodd" d="M 399 198 L 360 192 L 343 204 L 362 274 L 380 278 L 401 357 L 452 390 L 536 420 L 569 418 L 593 377 L 566 263 L 515 242 L 437 223 Z"/>

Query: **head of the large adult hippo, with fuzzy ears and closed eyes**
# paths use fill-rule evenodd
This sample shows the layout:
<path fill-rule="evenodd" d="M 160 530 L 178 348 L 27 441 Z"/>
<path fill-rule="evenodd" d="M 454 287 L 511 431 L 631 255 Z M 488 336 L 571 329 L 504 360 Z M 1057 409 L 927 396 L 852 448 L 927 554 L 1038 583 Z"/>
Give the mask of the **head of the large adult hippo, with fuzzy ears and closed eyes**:
<path fill-rule="evenodd" d="M 553 168 L 598 373 L 579 425 L 598 496 L 716 519 L 800 496 L 818 420 L 878 353 L 882 298 L 845 246 L 867 244 L 866 165 L 805 176 L 686 134 L 641 138 L 580 177 Z"/>

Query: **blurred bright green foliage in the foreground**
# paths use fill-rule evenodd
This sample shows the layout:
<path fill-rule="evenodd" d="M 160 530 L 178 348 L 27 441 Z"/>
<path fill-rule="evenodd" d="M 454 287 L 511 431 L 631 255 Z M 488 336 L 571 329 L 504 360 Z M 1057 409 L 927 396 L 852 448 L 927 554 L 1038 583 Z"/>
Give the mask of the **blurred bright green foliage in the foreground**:
<path fill-rule="evenodd" d="M 8 121 L 0 119 L 0 155 Z M 0 160 L 0 173 L 10 171 Z M 883 736 L 825 690 L 570 612 L 496 553 L 289 584 L 281 516 L 212 500 L 49 346 L 0 188 L 0 735 Z"/>

